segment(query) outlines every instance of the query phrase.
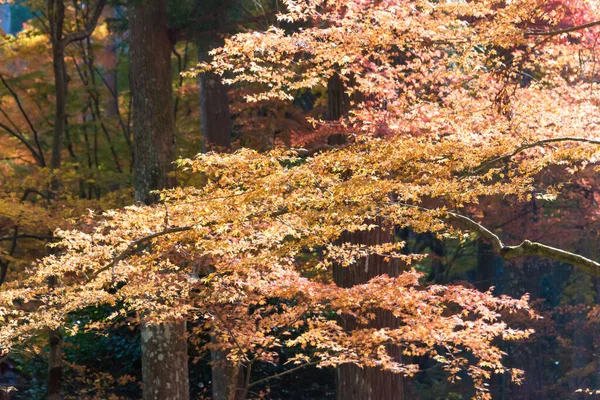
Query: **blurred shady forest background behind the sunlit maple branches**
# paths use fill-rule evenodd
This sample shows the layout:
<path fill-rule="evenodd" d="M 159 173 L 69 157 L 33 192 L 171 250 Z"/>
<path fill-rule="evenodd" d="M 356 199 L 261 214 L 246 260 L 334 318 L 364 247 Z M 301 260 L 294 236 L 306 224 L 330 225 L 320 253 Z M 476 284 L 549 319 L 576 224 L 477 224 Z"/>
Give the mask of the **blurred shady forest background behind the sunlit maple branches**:
<path fill-rule="evenodd" d="M 0 4 L 0 285 L 18 280 L 32 261 L 47 254 L 46 245 L 57 227 L 75 226 L 86 210 L 99 213 L 134 201 L 131 6 L 109 2 L 93 34 L 66 46 L 64 147 L 60 168 L 50 168 L 57 89 L 44 3 Z M 92 18 L 85 1 L 65 5 L 69 29 L 86 26 Z M 307 122 L 307 117 L 334 121 L 342 116 L 338 106 L 345 95 L 335 79 L 328 87 L 298 91 L 290 102 L 246 103 L 243 96 L 255 89 L 250 85 L 227 87 L 210 73 L 197 78 L 181 75 L 198 61 L 209 60 L 209 51 L 222 45 L 227 35 L 278 25 L 275 16 L 280 7 L 278 0 L 168 2 L 166 45 L 171 53 L 177 157 L 240 147 L 262 151 L 304 146 L 311 151 L 327 141 L 336 144 L 335 124 L 314 128 Z M 56 176 L 62 184 L 49 194 L 47 188 Z M 545 171 L 540 179 L 547 183 L 566 179 L 567 195 L 554 202 L 536 197 L 526 203 L 509 197 L 487 200 L 472 214 L 502 232 L 507 242 L 528 237 L 598 259 L 598 174 L 590 166 L 565 177 L 557 168 Z M 458 282 L 482 291 L 493 287 L 494 294 L 514 297 L 531 294 L 543 318 L 512 322 L 534 328 L 535 334 L 503 344 L 506 365 L 524 369 L 526 379 L 519 386 L 495 377 L 490 388 L 494 398 L 576 399 L 585 397 L 574 393 L 576 389 L 600 386 L 599 278 L 535 258 L 508 266 L 489 244 L 471 236 L 441 241 L 409 230 L 395 233 L 409 244 L 406 251 L 430 254 L 418 265 L 430 282 Z M 111 312 L 107 306 L 71 318 L 101 320 Z M 137 327 L 115 323 L 104 336 L 80 333 L 64 340 L 65 398 L 140 397 Z M 201 346 L 194 350 L 194 344 L 192 340 L 192 398 L 210 397 L 210 354 L 201 352 Z M 5 398 L 45 398 L 47 357 L 47 340 L 40 337 L 1 359 L 0 383 L 18 390 Z M 472 389 L 460 382 L 447 382 L 430 360 L 420 363 L 423 372 L 405 382 L 407 398 L 472 396 Z M 280 365 L 260 368 L 259 377 L 283 371 Z M 307 367 L 260 389 L 268 398 L 333 399 L 334 371 Z"/>

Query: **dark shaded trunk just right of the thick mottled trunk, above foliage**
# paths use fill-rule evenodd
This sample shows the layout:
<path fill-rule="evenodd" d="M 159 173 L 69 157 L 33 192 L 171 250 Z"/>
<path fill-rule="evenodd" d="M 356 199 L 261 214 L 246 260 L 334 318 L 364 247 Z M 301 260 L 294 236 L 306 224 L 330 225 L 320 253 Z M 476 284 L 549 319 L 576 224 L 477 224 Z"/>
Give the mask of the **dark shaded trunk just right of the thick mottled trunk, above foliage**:
<path fill-rule="evenodd" d="M 202 38 L 198 40 L 199 61 L 209 61 L 208 52 L 218 43 Z M 200 129 L 203 148 L 224 150 L 231 147 L 231 116 L 229 96 L 221 77 L 213 73 L 200 74 Z"/>

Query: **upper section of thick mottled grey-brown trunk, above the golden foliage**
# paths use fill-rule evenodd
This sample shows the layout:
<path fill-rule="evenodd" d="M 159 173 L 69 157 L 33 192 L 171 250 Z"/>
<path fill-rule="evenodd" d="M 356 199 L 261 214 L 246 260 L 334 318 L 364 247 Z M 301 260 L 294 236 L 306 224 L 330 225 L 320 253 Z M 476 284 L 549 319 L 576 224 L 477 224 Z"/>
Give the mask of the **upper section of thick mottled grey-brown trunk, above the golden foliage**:
<path fill-rule="evenodd" d="M 138 1 L 130 16 L 135 198 L 152 203 L 151 190 L 171 187 L 175 122 L 167 2 Z"/>

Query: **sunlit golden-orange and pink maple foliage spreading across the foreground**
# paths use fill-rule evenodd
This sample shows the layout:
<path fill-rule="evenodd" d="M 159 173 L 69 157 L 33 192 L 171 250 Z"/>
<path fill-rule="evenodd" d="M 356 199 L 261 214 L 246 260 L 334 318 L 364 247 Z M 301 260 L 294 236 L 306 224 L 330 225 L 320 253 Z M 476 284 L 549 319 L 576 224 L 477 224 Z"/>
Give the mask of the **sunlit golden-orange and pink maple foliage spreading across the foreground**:
<path fill-rule="evenodd" d="M 504 210 L 536 201 L 551 208 L 557 197 L 577 197 L 570 185 L 595 183 L 600 28 L 580 26 L 599 19 L 600 8 L 562 0 L 283 4 L 277 26 L 226 38 L 210 62 L 185 74 L 221 76 L 249 102 L 235 103 L 241 113 L 279 104 L 272 113 L 285 137 L 269 143 L 269 151 L 238 146 L 174 160 L 179 185 L 160 191 L 152 206 L 84 214 L 90 203 L 72 206 L 68 196 L 33 205 L 5 197 L 23 207 L 12 208 L 9 221 L 34 220 L 44 201 L 44 213 L 68 205 L 72 219 L 49 219 L 48 230 L 59 227 L 50 255 L 24 263 L 19 278 L 2 285 L 4 353 L 48 328 L 77 335 L 104 332 L 114 321 L 185 318 L 192 335 L 219 338 L 201 347 L 222 350 L 245 367 L 244 396 L 262 383 L 251 379 L 253 366 L 277 364 L 290 348 L 300 349 L 287 361 L 292 366 L 353 363 L 407 376 L 418 373 L 415 360 L 432 359 L 451 381 L 466 373 L 477 398 L 491 398 L 494 374 L 523 379 L 503 362 L 500 343 L 531 337 L 527 324 L 538 323 L 538 313 L 528 295 L 428 282 L 422 272 L 428 255 L 410 251 L 399 235 L 372 245 L 340 238 L 375 229 L 409 229 L 439 241 L 477 238 L 506 259 L 540 256 L 600 274 L 594 257 L 558 248 L 571 250 L 573 241 L 534 241 L 536 232 L 573 219 L 568 211 L 550 210 L 525 228 L 486 228 Z M 288 114 L 281 102 L 306 90 L 323 93 L 332 77 L 345 88 L 346 116 L 331 121 L 308 112 L 294 114 L 295 123 L 279 120 Z M 92 90 L 91 81 L 86 85 L 83 93 Z M 15 115 L 11 129 L 31 129 L 15 96 L 5 95 L 2 104 Z M 34 114 L 39 125 L 42 107 Z M 255 117 L 242 121 L 245 135 L 265 123 Z M 119 116 L 111 124 L 118 127 Z M 126 141 L 127 130 L 121 133 Z M 344 140 L 328 144 L 333 134 Z M 16 139 L 35 143 L 37 130 L 28 135 Z M 22 152 L 11 155 L 29 157 Z M 29 153 L 38 163 L 43 157 L 35 148 Z M 128 164 L 116 165 L 122 172 Z M 92 164 L 85 169 L 88 183 L 98 170 L 97 163 L 95 172 Z M 80 177 L 65 176 L 73 186 Z M 126 195 L 113 196 L 104 207 L 92 204 L 106 210 Z M 598 196 L 591 196 L 575 218 L 593 225 Z M 350 288 L 332 283 L 334 266 L 373 255 L 394 260 L 403 272 Z M 51 278 L 57 283 L 49 288 Z M 114 311 L 104 321 L 69 320 L 107 305 Z M 375 327 L 375 310 L 389 312 L 395 325 Z M 343 329 L 342 319 L 355 329 Z M 390 355 L 397 348 L 404 361 Z"/>

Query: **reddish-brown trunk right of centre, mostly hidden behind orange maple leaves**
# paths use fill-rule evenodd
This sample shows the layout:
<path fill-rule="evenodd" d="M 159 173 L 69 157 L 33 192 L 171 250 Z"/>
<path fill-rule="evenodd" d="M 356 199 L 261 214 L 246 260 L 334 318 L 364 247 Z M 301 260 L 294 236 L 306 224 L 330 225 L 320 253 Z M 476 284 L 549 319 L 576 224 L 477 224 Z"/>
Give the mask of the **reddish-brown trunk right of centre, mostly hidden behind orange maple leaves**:
<path fill-rule="evenodd" d="M 329 79 L 327 84 L 328 119 L 337 121 L 348 114 L 350 110 L 350 97 L 346 94 L 344 83 L 338 75 Z M 359 93 L 352 100 L 359 101 Z M 332 135 L 328 138 L 329 144 L 339 145 L 345 142 L 343 133 Z M 380 227 L 369 232 L 344 233 L 341 242 L 354 244 L 381 244 L 394 241 L 393 227 L 383 227 L 384 221 L 378 218 L 375 222 Z M 340 287 L 349 288 L 368 282 L 370 279 L 387 274 L 398 276 L 401 266 L 398 260 L 385 261 L 380 256 L 366 257 L 354 265 L 342 267 L 334 266 L 333 280 Z M 397 325 L 398 321 L 391 313 L 384 310 L 375 310 L 376 319 L 373 327 L 389 327 Z M 352 318 L 343 316 L 340 323 L 344 329 L 352 330 L 356 324 Z M 388 349 L 390 355 L 396 360 L 401 360 L 400 348 Z M 378 368 L 360 368 L 354 364 L 344 364 L 336 370 L 336 388 L 338 400 L 403 400 L 404 382 L 400 374 L 383 371 Z"/>

